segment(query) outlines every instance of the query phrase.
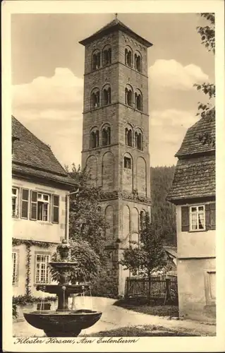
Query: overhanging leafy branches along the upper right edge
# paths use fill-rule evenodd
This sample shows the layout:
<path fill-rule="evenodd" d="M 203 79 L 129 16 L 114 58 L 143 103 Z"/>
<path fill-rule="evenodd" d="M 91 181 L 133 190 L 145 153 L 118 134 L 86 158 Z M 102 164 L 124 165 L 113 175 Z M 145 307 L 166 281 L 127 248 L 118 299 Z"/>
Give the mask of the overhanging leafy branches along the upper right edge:
<path fill-rule="evenodd" d="M 202 44 L 205 45 L 209 52 L 215 53 L 215 15 L 214 13 L 200 13 L 200 16 L 207 21 L 207 25 L 202 25 L 197 27 L 197 32 L 200 34 L 202 39 Z M 212 126 L 215 124 L 215 106 L 212 103 L 213 98 L 216 95 L 216 88 L 214 83 L 202 83 L 194 85 L 197 90 L 201 90 L 205 95 L 209 96 L 209 102 L 206 104 L 198 102 L 198 112 L 197 116 L 201 116 L 204 119 L 212 122 Z M 211 132 L 203 132 L 198 136 L 202 144 L 212 145 L 215 147 L 216 141 L 214 134 Z"/>

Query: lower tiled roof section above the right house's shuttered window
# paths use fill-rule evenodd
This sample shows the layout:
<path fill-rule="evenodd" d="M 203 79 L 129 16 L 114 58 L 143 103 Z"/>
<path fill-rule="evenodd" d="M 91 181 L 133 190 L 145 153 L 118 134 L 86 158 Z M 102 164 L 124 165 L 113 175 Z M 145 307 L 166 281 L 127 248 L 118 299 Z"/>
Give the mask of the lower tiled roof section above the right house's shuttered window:
<path fill-rule="evenodd" d="M 178 160 L 168 201 L 216 195 L 215 155 Z"/>

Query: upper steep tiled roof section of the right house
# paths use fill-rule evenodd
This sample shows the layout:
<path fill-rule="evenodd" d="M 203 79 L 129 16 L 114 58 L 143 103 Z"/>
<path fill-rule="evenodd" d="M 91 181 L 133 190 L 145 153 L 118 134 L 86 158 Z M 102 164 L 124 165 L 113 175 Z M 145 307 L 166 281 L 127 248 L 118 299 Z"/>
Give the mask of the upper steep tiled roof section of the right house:
<path fill-rule="evenodd" d="M 181 148 L 176 153 L 176 157 L 181 157 L 185 155 L 193 155 L 195 153 L 209 152 L 215 150 L 212 145 L 203 144 L 202 141 L 199 140 L 198 136 L 202 133 L 211 133 L 212 137 L 215 137 L 215 119 L 212 118 L 202 118 L 193 126 L 188 128 L 186 132 L 186 136 L 183 139 L 183 143 L 181 144 Z"/>

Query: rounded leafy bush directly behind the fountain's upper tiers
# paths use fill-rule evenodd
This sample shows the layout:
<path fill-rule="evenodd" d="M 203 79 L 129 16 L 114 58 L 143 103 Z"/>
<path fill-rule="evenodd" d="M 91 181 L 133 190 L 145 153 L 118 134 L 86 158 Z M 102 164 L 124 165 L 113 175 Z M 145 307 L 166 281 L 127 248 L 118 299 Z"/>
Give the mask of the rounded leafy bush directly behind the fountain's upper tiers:
<path fill-rule="evenodd" d="M 99 256 L 91 248 L 87 241 L 70 241 L 71 244 L 71 261 L 78 261 L 78 267 L 71 273 L 69 280 L 72 284 L 76 282 L 89 282 L 93 280 L 99 273 L 100 261 Z M 59 254 L 54 253 L 51 261 L 59 261 Z M 52 280 L 59 281 L 59 271 L 56 268 L 50 269 Z"/>

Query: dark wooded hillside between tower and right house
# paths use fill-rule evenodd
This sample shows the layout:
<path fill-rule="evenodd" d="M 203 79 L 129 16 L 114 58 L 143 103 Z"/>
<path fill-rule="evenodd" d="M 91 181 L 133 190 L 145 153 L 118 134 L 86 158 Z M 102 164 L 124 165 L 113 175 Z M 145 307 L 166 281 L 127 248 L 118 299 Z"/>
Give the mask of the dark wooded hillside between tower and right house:
<path fill-rule="evenodd" d="M 164 245 L 176 246 L 176 207 L 166 201 L 174 179 L 175 166 L 151 167 L 152 223 L 156 225 Z"/>

